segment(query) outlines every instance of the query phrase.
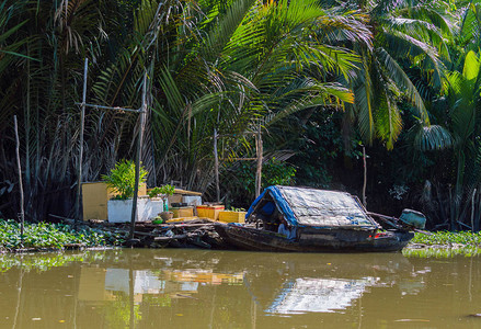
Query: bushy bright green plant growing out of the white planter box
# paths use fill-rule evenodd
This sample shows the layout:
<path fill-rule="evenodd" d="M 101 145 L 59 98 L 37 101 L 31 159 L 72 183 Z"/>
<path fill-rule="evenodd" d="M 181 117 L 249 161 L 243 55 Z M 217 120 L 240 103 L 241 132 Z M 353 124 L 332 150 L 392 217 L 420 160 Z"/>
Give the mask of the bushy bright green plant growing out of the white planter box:
<path fill-rule="evenodd" d="M 140 167 L 139 185 L 146 182 L 147 170 Z M 102 180 L 108 188 L 118 193 L 114 198 L 127 200 L 134 196 L 135 189 L 135 163 L 129 160 L 121 160 L 108 174 L 103 174 Z"/>

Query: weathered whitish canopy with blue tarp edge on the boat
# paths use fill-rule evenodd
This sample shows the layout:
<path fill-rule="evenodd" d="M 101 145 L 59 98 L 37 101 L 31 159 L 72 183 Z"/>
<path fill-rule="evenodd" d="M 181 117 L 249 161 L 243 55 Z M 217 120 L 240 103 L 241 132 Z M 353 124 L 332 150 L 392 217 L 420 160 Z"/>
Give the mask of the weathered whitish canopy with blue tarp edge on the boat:
<path fill-rule="evenodd" d="M 251 215 L 268 217 L 276 211 L 293 226 L 378 227 L 359 202 L 348 193 L 280 185 L 265 189 L 252 203 L 245 218 Z"/>

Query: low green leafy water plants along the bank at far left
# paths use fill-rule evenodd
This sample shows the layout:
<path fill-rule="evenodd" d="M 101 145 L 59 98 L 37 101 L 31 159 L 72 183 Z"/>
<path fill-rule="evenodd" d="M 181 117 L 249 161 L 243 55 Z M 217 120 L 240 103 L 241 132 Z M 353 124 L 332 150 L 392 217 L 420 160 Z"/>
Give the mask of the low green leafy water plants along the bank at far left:
<path fill-rule="evenodd" d="M 121 235 L 82 227 L 77 231 L 69 225 L 25 223 L 23 248 L 62 249 L 65 245 L 80 243 L 85 247 L 117 246 L 123 242 Z M 0 219 L 0 249 L 22 248 L 20 224 Z"/>

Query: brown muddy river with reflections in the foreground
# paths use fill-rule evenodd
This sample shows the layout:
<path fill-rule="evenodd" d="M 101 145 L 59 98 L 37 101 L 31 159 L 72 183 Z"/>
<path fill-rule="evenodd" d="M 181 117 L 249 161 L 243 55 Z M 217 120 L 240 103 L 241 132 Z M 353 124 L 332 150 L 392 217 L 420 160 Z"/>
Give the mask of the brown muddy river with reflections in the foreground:
<path fill-rule="evenodd" d="M 481 328 L 481 258 L 0 256 L 0 328 Z"/>

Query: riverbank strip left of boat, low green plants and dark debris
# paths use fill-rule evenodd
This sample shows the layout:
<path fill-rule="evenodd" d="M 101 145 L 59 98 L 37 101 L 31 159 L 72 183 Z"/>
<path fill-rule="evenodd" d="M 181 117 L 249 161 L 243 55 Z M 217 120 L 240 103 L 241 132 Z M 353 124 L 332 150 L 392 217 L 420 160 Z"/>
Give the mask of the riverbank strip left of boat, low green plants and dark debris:
<path fill-rule="evenodd" d="M 75 229 L 69 224 L 25 224 L 23 242 L 20 224 L 0 219 L 0 252 L 55 251 L 65 249 L 136 247 L 136 248 L 203 248 L 226 249 L 225 241 L 215 231 L 210 219 L 198 218 L 188 223 L 136 223 L 134 238 L 129 239 L 128 223 L 88 220 Z"/>

